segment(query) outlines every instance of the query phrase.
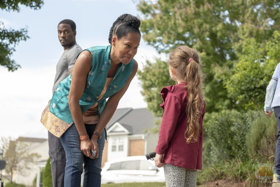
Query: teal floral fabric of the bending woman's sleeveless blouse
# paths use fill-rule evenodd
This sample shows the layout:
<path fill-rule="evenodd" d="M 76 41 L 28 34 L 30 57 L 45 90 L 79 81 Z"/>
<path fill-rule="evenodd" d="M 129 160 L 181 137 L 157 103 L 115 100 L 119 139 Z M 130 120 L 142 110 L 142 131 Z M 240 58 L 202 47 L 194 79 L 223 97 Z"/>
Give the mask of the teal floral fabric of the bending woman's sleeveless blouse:
<path fill-rule="evenodd" d="M 133 59 L 131 59 L 127 65 L 122 63 L 119 64 L 119 67 L 113 77 L 111 84 L 108 86 L 107 91 L 105 92 L 104 96 L 99 101 L 97 101 L 97 98 L 104 89 L 107 73 L 111 66 L 111 45 L 95 46 L 86 50 L 91 53 L 91 69 L 87 75 L 85 90 L 79 101 L 79 104 L 82 113 L 84 113 L 87 109 L 89 109 L 89 107 L 98 102 L 98 115 L 100 117 L 105 107 L 106 99 L 117 93 L 127 82 L 133 71 L 134 62 Z M 73 118 L 68 104 L 71 79 L 72 74 L 70 74 L 58 84 L 49 105 L 49 111 L 69 125 L 73 124 Z"/>

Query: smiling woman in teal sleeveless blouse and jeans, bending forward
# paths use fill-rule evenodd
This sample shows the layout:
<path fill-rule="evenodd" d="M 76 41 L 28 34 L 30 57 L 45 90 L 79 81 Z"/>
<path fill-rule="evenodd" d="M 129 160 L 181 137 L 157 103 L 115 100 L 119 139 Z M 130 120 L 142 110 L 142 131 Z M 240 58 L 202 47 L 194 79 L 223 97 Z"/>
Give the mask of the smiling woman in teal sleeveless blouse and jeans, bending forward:
<path fill-rule="evenodd" d="M 139 27 L 135 16 L 118 17 L 110 29 L 111 45 L 82 51 L 73 73 L 60 82 L 42 114 L 41 122 L 60 137 L 65 149 L 65 186 L 80 186 L 83 163 L 83 186 L 101 185 L 105 127 L 137 72 L 133 57 L 140 43 Z"/>

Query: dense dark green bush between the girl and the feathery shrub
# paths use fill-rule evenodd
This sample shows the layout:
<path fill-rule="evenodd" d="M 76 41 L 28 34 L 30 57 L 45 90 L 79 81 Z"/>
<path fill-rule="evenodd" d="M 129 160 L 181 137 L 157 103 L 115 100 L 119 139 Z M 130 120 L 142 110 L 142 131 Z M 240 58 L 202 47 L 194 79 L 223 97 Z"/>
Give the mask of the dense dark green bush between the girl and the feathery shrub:
<path fill-rule="evenodd" d="M 221 160 L 248 160 L 246 135 L 250 131 L 252 121 L 261 116 L 261 111 L 239 112 L 224 110 L 212 113 L 204 125 L 209 137 L 208 163 L 219 163 Z"/>

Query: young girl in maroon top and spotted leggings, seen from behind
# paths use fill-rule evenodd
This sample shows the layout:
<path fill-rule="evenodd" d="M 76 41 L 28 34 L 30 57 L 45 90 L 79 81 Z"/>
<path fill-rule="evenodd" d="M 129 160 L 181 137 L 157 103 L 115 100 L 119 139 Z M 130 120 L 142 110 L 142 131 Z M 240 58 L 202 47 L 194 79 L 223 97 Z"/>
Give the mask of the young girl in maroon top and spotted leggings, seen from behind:
<path fill-rule="evenodd" d="M 155 166 L 164 168 L 166 186 L 196 186 L 202 169 L 202 122 L 205 102 L 201 60 L 197 51 L 179 46 L 169 57 L 176 85 L 161 90 L 164 114 L 155 152 Z"/>

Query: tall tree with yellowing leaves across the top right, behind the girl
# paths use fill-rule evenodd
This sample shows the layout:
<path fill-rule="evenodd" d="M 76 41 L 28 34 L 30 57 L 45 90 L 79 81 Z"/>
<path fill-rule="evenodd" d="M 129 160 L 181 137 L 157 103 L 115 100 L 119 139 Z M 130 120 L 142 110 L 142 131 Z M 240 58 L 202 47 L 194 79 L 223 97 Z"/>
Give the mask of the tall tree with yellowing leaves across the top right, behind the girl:
<path fill-rule="evenodd" d="M 210 112 L 236 106 L 216 74 L 228 74 L 241 52 L 240 41 L 253 37 L 262 43 L 279 30 L 279 6 L 276 0 L 138 1 L 141 31 L 149 45 L 164 53 L 177 45 L 201 51 L 208 75 L 206 110 Z"/>

